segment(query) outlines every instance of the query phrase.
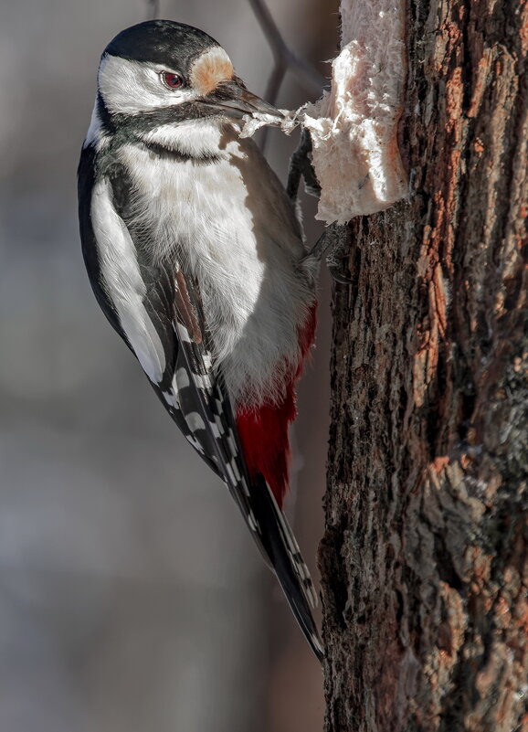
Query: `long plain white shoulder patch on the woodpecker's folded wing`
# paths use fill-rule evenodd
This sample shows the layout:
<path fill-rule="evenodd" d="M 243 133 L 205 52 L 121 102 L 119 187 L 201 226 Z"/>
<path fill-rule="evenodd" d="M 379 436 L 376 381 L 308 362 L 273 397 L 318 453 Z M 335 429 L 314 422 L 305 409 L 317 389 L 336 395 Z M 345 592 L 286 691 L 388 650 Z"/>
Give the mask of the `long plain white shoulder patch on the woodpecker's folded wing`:
<path fill-rule="evenodd" d="M 94 186 L 91 223 L 104 288 L 143 371 L 157 384 L 165 369 L 164 347 L 143 305 L 146 288 L 136 250 L 128 229 L 111 203 L 111 185 L 106 179 Z"/>

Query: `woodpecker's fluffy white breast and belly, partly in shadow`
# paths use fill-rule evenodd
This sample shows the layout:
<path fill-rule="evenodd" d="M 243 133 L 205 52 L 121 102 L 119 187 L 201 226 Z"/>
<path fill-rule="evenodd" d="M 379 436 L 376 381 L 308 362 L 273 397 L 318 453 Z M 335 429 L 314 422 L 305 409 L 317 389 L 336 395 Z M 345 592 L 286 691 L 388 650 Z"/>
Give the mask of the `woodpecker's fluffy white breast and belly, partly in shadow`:
<path fill-rule="evenodd" d="M 139 192 L 135 223 L 151 233 L 154 260 L 178 260 L 196 276 L 231 398 L 275 401 L 299 363 L 313 264 L 300 262 L 288 201 L 253 143 L 219 131 L 215 142 L 214 164 L 122 149 Z"/>

